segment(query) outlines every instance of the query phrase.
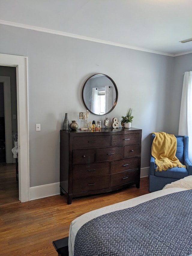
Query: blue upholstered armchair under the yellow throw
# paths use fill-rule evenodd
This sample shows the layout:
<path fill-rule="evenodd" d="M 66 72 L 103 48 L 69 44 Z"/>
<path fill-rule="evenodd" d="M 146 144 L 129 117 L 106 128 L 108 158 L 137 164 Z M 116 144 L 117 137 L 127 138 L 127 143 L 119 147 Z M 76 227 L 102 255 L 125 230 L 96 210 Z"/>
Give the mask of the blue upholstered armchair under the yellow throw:
<path fill-rule="evenodd" d="M 166 184 L 182 179 L 186 176 L 192 175 L 192 164 L 188 159 L 188 136 L 176 136 L 177 149 L 176 157 L 179 161 L 186 165 L 184 167 L 173 167 L 166 171 L 155 171 L 157 166 L 155 165 L 155 158 L 151 155 L 150 170 L 149 170 L 149 192 L 161 190 Z M 152 134 L 151 145 L 155 134 Z"/>

